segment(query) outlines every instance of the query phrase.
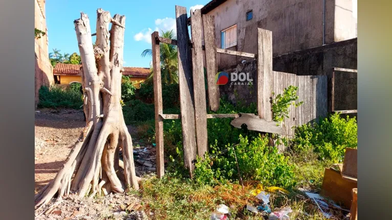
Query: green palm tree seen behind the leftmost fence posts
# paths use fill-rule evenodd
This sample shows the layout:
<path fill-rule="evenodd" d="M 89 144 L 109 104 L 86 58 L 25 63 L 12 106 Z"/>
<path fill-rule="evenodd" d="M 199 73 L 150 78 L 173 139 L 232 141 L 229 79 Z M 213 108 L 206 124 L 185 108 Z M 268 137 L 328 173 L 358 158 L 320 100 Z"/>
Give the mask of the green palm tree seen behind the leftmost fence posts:
<path fill-rule="evenodd" d="M 173 30 L 162 31 L 161 36 L 169 39 L 176 39 Z M 153 56 L 151 49 L 146 49 L 141 54 L 142 57 Z M 178 83 L 178 58 L 177 58 L 177 46 L 167 43 L 160 44 L 160 58 L 161 58 L 161 74 L 162 81 L 165 84 Z M 146 82 L 150 82 L 153 79 L 154 72 L 153 68 L 150 69 L 150 75 L 146 79 Z"/>

